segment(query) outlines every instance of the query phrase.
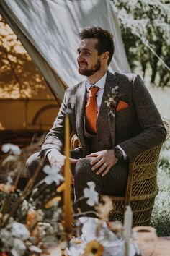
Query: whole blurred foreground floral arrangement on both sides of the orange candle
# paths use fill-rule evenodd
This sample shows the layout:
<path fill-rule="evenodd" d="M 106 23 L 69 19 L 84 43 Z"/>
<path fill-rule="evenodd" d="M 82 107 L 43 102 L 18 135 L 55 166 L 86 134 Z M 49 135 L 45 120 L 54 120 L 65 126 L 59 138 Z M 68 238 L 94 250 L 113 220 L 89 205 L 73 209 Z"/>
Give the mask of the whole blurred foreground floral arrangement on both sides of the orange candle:
<path fill-rule="evenodd" d="M 1 163 L 1 166 L 10 166 L 10 162 L 19 163 L 19 155 L 21 150 L 12 144 L 3 145 L 1 150 L 9 155 Z M 19 163 L 19 167 L 22 164 Z M 23 190 L 19 190 L 18 182 L 21 176 L 20 170 L 15 166 L 15 170 L 8 171 L 6 182 L 0 184 L 0 255 L 1 256 L 27 256 L 27 255 L 42 255 L 45 253 L 45 244 L 54 242 L 61 244 L 61 247 L 66 249 L 68 247 L 68 237 L 63 223 L 63 203 L 60 188 L 63 182 L 63 176 L 60 174 L 60 168 L 50 168 L 45 166 L 43 171 L 46 176 L 45 179 L 35 184 L 37 175 L 40 169 L 35 171 L 34 176 L 27 182 Z M 60 187 L 58 185 L 61 184 Z M 57 188 L 58 187 L 58 188 Z M 95 191 L 94 182 L 88 182 L 84 189 L 84 197 L 86 203 L 97 206 L 97 218 L 100 218 L 97 224 L 95 234 L 99 233 L 103 221 L 107 221 L 109 210 L 112 208 L 112 203 L 107 199 L 104 204 L 99 203 L 99 195 Z M 82 213 L 78 213 L 81 214 Z M 83 213 L 86 215 L 86 213 Z M 73 217 L 77 213 L 73 213 Z M 81 227 L 79 221 L 73 224 L 71 237 L 79 238 L 81 234 Z M 76 241 L 74 239 L 74 241 Z M 62 245 L 63 244 L 63 245 Z M 102 244 L 95 240 L 94 243 L 88 243 L 84 250 L 89 252 L 94 249 L 103 251 Z M 72 247 L 68 250 L 68 255 L 74 255 Z M 78 250 L 77 252 L 80 253 Z M 82 248 L 81 248 L 82 252 Z M 79 254 L 81 255 L 81 254 Z M 87 254 L 88 255 L 88 254 Z M 97 254 L 99 255 L 99 254 Z M 102 255 L 102 254 L 101 254 Z"/>

